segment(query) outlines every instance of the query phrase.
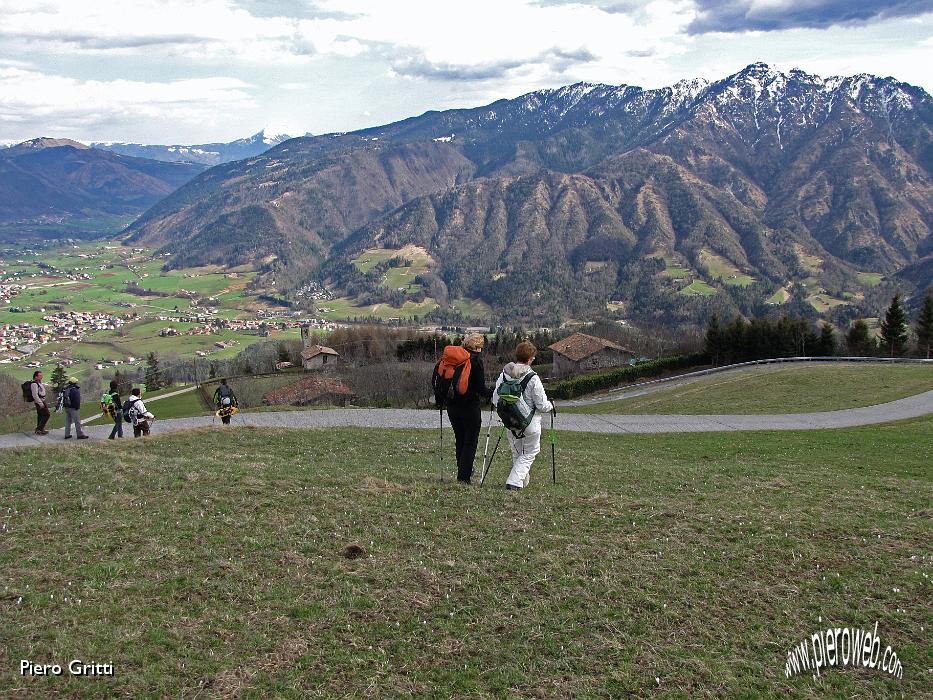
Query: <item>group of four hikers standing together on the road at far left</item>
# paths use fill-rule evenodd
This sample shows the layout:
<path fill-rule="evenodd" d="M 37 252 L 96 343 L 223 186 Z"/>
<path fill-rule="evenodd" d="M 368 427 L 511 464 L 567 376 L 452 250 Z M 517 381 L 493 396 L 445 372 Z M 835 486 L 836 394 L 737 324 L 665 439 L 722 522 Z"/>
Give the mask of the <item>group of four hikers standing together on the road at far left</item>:
<path fill-rule="evenodd" d="M 49 403 L 49 391 L 42 383 L 42 371 L 33 372 L 32 381 L 23 384 L 23 399 L 35 405 L 36 408 L 36 435 L 48 435 L 46 425 L 52 417 L 52 408 Z M 113 429 L 108 439 L 123 437 L 123 423 L 131 423 L 133 437 L 148 435 L 155 416 L 146 408 L 142 400 L 142 390 L 134 387 L 126 401 L 120 401 L 120 390 L 116 381 L 110 382 L 110 387 L 100 397 L 101 412 L 113 421 Z M 81 385 L 76 377 L 69 377 L 64 388 L 58 392 L 55 405 L 56 411 L 65 414 L 65 440 L 70 440 L 72 427 L 78 440 L 87 440 L 88 434 L 81 425 Z"/>

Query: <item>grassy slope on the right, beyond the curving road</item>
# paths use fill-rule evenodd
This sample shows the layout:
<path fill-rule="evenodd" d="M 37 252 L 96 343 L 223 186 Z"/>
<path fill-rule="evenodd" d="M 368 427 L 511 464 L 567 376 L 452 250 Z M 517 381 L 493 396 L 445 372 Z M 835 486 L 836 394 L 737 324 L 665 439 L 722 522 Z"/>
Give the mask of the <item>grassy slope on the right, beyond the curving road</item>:
<path fill-rule="evenodd" d="M 933 367 L 773 365 L 711 375 L 646 396 L 580 406 L 577 413 L 807 413 L 871 406 L 933 389 Z"/>

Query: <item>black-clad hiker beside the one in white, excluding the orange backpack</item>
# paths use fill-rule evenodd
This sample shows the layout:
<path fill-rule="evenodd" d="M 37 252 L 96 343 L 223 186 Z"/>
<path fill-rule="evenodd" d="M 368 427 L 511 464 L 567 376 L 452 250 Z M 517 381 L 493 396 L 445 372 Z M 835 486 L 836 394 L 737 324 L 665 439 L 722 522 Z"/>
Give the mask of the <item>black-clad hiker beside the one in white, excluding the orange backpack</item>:
<path fill-rule="evenodd" d="M 483 346 L 486 339 L 481 335 L 467 336 L 463 349 L 469 353 L 470 376 L 465 393 L 454 392 L 447 402 L 447 418 L 454 429 L 457 453 L 457 481 L 469 484 L 473 477 L 473 462 L 476 445 L 483 426 L 481 404 L 492 398 L 492 389 L 486 386 L 483 367 Z"/>

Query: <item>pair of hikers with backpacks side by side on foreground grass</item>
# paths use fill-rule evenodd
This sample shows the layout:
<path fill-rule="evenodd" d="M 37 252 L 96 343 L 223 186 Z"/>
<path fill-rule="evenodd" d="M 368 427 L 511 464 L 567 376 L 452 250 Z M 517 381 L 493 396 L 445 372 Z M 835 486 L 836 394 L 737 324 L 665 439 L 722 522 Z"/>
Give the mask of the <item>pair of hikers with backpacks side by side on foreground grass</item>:
<path fill-rule="evenodd" d="M 482 359 L 485 341 L 482 335 L 471 335 L 462 346 L 444 348 L 434 368 L 434 398 L 441 411 L 447 410 L 454 430 L 457 480 L 471 483 L 483 424 L 482 404 L 489 401 L 502 420 L 503 429 L 508 431 L 512 448 L 512 470 L 505 487 L 519 490 L 528 486 L 531 466 L 541 451 L 541 415 L 553 416 L 556 411 L 541 378 L 531 368 L 538 352 L 533 344 L 527 341 L 518 344 L 515 361 L 502 368 L 495 386 L 490 388 L 486 386 Z M 486 438 L 488 448 L 488 433 Z M 483 462 L 487 467 L 485 454 Z M 485 478 L 485 474 L 482 476 Z"/>

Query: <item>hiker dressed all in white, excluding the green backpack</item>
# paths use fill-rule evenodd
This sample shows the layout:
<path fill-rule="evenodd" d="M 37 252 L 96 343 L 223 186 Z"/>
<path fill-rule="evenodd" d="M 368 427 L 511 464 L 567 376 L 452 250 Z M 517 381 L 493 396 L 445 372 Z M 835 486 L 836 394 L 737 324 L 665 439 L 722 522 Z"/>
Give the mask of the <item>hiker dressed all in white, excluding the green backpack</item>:
<path fill-rule="evenodd" d="M 499 387 L 502 383 L 507 379 L 522 380 L 524 390 L 521 398 L 534 411 L 531 422 L 518 435 L 509 430 L 509 444 L 512 446 L 512 471 L 509 472 L 505 487 L 511 491 L 528 486 L 531 479 L 531 465 L 535 461 L 535 455 L 541 451 L 541 414 L 554 410 L 554 404 L 544 393 L 541 378 L 531 369 L 537 352 L 538 349 L 531 343 L 527 341 L 519 343 L 515 348 L 515 362 L 510 362 L 502 368 L 492 394 L 492 403 L 498 406 Z"/>

